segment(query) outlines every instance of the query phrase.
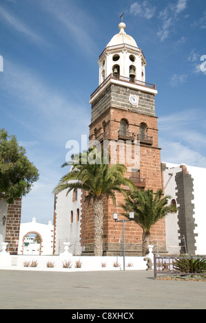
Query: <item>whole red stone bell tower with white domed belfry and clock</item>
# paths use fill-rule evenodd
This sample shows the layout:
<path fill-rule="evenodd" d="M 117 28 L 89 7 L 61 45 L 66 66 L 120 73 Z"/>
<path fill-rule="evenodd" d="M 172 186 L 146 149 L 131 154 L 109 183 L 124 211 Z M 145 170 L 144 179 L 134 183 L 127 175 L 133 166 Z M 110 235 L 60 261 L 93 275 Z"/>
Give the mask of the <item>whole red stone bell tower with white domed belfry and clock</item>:
<path fill-rule="evenodd" d="M 161 148 L 158 147 L 157 117 L 155 115 L 156 85 L 145 82 L 145 56 L 136 45 L 134 38 L 125 32 L 125 23 L 119 23 L 119 33 L 115 34 L 99 56 L 99 87 L 90 96 L 92 105 L 90 142 L 98 140 L 116 142 L 116 162 L 121 160 L 119 142 L 139 144 L 138 167 L 127 168 L 130 177 L 138 189 L 163 189 L 161 172 Z M 124 163 L 127 166 L 127 163 Z M 119 206 L 124 202 L 116 194 L 116 207 L 105 199 L 103 222 L 103 254 L 120 254 L 122 249 L 122 224 L 113 220 L 113 212 L 123 216 Z M 92 254 L 94 232 L 92 223 L 92 205 L 82 199 L 81 245 L 84 254 Z M 154 225 L 152 239 L 158 252 L 165 251 L 165 221 Z M 125 225 L 125 252 L 141 255 L 142 230 L 134 221 Z M 163 247 L 161 247 L 163 246 Z"/>

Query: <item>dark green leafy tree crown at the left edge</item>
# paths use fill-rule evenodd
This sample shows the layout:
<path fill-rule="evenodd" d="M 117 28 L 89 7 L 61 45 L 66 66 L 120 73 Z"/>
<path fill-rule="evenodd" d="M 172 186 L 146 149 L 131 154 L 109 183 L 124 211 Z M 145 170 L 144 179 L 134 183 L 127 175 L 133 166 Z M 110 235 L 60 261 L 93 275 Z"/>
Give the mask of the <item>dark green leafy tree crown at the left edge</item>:
<path fill-rule="evenodd" d="M 0 199 L 14 203 L 14 199 L 30 192 L 37 179 L 39 172 L 25 156 L 25 149 L 14 135 L 0 129 Z"/>

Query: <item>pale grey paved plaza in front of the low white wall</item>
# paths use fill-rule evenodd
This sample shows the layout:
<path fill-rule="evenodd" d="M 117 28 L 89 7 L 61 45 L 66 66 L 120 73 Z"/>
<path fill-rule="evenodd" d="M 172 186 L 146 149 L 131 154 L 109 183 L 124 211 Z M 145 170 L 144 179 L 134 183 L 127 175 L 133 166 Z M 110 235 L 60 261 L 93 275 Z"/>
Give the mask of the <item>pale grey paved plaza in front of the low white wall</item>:
<path fill-rule="evenodd" d="M 206 309 L 206 282 L 153 271 L 0 270 L 0 309 Z"/>

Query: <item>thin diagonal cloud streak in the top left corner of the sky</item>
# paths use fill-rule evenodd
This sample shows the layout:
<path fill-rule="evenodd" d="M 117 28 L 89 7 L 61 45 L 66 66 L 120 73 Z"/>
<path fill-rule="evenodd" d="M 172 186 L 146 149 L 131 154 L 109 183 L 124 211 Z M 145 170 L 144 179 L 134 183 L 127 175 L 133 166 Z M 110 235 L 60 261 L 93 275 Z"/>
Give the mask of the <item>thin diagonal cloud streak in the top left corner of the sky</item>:
<path fill-rule="evenodd" d="M 4 19 L 4 21 L 6 21 L 6 23 L 14 27 L 14 29 L 17 30 L 17 32 L 21 32 L 21 34 L 27 36 L 27 38 L 31 41 L 34 41 L 39 45 L 46 44 L 45 40 L 41 36 L 36 34 L 34 31 L 32 31 L 30 27 L 28 27 L 28 25 L 25 25 L 25 23 L 17 19 L 15 16 L 10 14 L 10 12 L 8 12 L 1 6 L 0 15 Z"/>

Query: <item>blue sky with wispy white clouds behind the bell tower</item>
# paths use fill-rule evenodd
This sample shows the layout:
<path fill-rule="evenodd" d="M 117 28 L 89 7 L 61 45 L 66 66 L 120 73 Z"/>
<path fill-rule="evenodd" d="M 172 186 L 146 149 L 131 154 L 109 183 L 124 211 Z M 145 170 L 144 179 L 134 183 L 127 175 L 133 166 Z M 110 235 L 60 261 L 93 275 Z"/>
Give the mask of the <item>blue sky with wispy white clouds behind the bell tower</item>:
<path fill-rule="evenodd" d="M 65 144 L 88 135 L 97 60 L 121 12 L 157 86 L 162 161 L 206 168 L 205 0 L 0 0 L 0 128 L 40 172 L 22 222 L 53 220 Z"/>

